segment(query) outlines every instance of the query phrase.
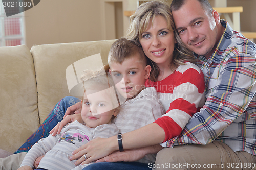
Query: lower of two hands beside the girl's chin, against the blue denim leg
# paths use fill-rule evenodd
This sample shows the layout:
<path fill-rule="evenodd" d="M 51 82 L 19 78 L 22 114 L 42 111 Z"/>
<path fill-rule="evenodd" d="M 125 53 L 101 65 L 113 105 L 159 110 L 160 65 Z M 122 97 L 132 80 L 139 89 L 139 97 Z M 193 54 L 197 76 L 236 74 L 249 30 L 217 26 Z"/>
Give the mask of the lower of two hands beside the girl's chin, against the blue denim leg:
<path fill-rule="evenodd" d="M 50 134 L 52 134 L 52 136 L 55 136 L 57 134 L 60 134 L 61 129 L 67 125 L 70 122 L 75 122 L 75 120 L 77 120 L 78 122 L 82 122 L 82 117 L 81 117 L 81 113 L 79 114 L 72 114 L 72 115 L 67 115 L 61 122 L 59 122 L 51 131 Z"/>

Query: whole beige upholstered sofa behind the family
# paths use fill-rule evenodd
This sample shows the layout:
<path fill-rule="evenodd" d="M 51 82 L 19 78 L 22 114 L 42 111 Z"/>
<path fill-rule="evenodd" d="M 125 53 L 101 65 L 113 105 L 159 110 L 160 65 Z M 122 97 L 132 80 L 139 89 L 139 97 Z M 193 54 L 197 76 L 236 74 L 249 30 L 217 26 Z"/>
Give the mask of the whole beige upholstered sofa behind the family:
<path fill-rule="evenodd" d="M 115 40 L 0 47 L 0 149 L 15 152 L 55 104 L 70 95 L 66 68 L 100 53 L 107 63 Z M 3 156 L 2 156 L 3 157 Z"/>

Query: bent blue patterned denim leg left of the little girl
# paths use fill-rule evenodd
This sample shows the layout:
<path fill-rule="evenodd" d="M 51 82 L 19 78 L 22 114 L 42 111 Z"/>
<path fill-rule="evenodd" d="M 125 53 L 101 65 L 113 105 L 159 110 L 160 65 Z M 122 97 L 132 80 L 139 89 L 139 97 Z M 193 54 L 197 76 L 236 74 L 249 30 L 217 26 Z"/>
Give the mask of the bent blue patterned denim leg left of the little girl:
<path fill-rule="evenodd" d="M 28 152 L 30 148 L 40 139 L 47 137 L 50 131 L 63 119 L 63 116 L 68 107 L 74 105 L 79 102 L 78 98 L 74 97 L 65 97 L 61 99 L 55 107 L 52 109 L 51 113 L 48 115 L 46 120 L 41 124 L 41 126 L 37 129 L 37 131 L 31 135 L 27 141 L 19 147 L 14 154 L 19 152 Z"/>

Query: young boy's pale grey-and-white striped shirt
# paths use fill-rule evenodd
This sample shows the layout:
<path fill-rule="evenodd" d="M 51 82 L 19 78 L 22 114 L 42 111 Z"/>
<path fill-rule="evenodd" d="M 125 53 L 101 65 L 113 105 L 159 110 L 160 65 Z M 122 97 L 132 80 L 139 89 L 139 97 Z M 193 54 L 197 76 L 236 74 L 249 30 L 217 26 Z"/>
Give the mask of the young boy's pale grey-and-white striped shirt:
<path fill-rule="evenodd" d="M 121 133 L 127 133 L 153 123 L 163 114 L 157 90 L 151 87 L 142 90 L 136 98 L 124 102 L 113 123 Z M 156 154 L 148 154 L 137 162 L 154 163 L 155 160 Z"/>

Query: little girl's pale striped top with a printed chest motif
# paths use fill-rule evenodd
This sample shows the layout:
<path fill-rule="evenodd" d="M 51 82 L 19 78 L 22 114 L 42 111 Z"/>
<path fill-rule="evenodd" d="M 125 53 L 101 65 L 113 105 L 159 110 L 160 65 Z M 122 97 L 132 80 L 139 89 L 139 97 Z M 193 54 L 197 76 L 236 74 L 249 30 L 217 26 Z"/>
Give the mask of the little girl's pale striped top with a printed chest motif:
<path fill-rule="evenodd" d="M 38 168 L 81 170 L 89 164 L 75 166 L 76 160 L 69 160 L 72 152 L 92 139 L 97 137 L 108 138 L 117 134 L 118 128 L 113 123 L 99 125 L 96 128 L 88 128 L 75 121 L 63 127 L 59 135 L 49 135 L 34 144 L 23 159 L 20 167 L 30 166 L 33 168 L 36 158 L 45 155 Z"/>

